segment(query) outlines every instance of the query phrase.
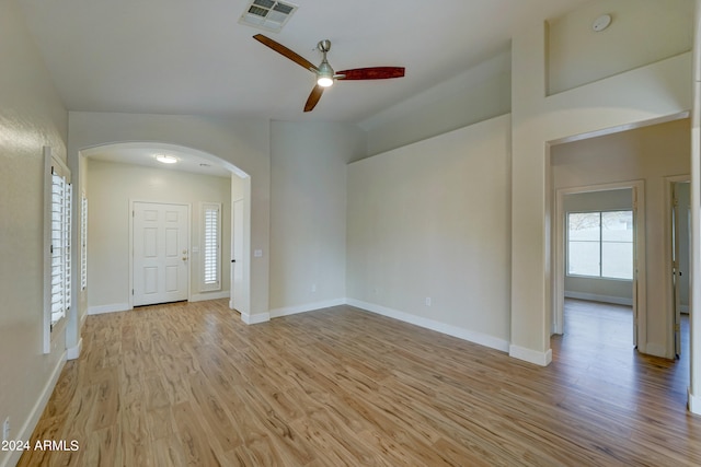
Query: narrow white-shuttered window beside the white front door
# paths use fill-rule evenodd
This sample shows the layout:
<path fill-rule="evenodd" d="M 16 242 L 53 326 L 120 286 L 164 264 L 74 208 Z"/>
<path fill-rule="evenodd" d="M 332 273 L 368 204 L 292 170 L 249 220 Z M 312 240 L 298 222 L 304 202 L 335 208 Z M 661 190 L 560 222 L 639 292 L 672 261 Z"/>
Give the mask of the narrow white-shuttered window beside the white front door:
<path fill-rule="evenodd" d="M 221 290 L 221 203 L 202 203 L 200 291 Z"/>

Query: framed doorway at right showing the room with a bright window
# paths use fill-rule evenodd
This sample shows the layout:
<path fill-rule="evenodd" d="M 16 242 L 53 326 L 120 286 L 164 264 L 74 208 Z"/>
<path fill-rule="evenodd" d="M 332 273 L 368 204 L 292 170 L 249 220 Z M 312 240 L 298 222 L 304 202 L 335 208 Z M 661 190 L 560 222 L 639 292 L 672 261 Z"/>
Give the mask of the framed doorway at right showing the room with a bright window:
<path fill-rule="evenodd" d="M 642 180 L 556 190 L 553 334 L 565 331 L 565 300 L 584 300 L 630 307 L 631 347 L 644 342 L 644 212 Z"/>

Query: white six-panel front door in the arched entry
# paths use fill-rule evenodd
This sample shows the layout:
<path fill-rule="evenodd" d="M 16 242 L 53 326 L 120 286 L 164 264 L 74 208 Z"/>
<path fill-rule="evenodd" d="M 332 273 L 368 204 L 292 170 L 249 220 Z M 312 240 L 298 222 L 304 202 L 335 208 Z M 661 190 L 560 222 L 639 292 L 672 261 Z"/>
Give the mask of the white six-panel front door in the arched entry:
<path fill-rule="evenodd" d="M 188 299 L 188 211 L 185 205 L 134 202 L 134 306 Z"/>

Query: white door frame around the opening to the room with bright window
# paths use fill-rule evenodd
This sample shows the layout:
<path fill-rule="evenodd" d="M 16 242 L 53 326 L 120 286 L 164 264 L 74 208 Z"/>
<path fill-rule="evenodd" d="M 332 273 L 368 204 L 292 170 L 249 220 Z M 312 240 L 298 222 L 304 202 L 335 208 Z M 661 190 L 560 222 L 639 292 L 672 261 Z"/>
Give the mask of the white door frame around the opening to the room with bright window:
<path fill-rule="evenodd" d="M 564 197 L 565 195 L 574 195 L 581 192 L 609 191 L 614 189 L 630 188 L 633 190 L 633 215 L 635 226 L 635 258 L 633 264 L 633 313 L 634 313 L 634 332 L 633 340 L 639 350 L 645 352 L 647 345 L 647 307 L 645 291 L 645 182 L 631 180 L 619 182 L 602 185 L 587 185 L 572 188 L 560 188 L 555 192 L 555 217 L 554 217 L 554 245 L 553 252 L 553 334 L 563 334 L 564 330 L 564 301 L 565 301 L 565 212 Z"/>

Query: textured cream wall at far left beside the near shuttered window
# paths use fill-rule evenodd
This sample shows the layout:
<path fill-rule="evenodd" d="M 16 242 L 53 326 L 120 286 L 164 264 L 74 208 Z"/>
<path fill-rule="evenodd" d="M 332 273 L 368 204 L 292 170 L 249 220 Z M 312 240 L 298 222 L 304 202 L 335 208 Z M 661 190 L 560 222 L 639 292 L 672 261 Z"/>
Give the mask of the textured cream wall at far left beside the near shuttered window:
<path fill-rule="evenodd" d="M 14 0 L 0 2 L 0 423 L 26 440 L 66 359 L 61 334 L 43 353 L 43 147 L 66 160 L 68 115 Z"/>

